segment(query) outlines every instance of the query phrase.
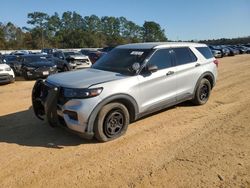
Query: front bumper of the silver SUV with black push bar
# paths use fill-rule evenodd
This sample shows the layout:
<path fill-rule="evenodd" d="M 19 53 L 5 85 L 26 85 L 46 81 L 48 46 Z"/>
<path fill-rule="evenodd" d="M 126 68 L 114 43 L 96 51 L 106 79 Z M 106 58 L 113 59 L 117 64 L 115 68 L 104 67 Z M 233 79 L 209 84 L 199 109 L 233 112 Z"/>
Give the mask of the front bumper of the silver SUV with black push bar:
<path fill-rule="evenodd" d="M 32 91 L 35 115 L 41 120 L 46 119 L 52 127 L 61 125 L 91 139 L 94 133 L 88 129 L 88 119 L 93 110 L 93 99 L 65 100 L 61 93 L 60 87 L 37 80 Z"/>

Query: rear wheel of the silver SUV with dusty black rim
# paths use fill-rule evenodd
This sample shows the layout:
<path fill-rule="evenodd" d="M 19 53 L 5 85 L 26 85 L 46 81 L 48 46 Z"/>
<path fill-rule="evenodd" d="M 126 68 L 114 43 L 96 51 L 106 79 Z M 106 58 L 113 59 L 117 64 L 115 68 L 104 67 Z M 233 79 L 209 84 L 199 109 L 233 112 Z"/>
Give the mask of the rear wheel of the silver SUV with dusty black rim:
<path fill-rule="evenodd" d="M 210 93 L 211 84 L 206 78 L 203 78 L 195 91 L 195 97 L 192 102 L 195 105 L 203 105 L 208 101 Z"/>

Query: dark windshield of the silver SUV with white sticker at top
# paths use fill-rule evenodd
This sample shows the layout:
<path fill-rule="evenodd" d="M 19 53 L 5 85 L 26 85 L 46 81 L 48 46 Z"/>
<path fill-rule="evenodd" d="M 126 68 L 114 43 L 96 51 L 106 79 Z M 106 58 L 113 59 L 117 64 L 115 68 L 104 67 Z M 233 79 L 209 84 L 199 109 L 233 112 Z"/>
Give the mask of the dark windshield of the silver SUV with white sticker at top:
<path fill-rule="evenodd" d="M 131 67 L 134 63 L 142 65 L 151 52 L 151 49 L 121 49 L 116 48 L 100 58 L 92 68 L 121 74 L 131 75 Z"/>

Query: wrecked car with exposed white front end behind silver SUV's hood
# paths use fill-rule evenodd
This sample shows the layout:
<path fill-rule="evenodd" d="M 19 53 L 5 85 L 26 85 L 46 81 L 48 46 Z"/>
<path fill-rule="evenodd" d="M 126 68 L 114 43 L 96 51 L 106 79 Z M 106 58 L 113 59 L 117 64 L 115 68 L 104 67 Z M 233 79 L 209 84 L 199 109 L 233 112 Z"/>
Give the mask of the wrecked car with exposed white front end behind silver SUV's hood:
<path fill-rule="evenodd" d="M 69 71 L 91 67 L 88 56 L 76 51 L 56 51 L 51 60 L 57 65 L 59 71 Z"/>

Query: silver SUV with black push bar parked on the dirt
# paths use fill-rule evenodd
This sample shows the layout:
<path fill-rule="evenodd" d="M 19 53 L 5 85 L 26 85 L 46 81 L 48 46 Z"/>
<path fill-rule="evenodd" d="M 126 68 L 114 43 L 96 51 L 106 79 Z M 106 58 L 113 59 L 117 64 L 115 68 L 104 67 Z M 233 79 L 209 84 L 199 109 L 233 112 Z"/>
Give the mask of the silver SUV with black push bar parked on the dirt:
<path fill-rule="evenodd" d="M 140 43 L 118 46 L 89 69 L 38 80 L 33 109 L 51 126 L 109 141 L 130 122 L 191 100 L 205 104 L 218 61 L 205 44 Z"/>

